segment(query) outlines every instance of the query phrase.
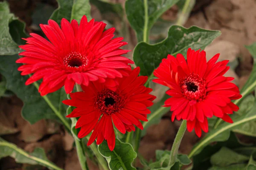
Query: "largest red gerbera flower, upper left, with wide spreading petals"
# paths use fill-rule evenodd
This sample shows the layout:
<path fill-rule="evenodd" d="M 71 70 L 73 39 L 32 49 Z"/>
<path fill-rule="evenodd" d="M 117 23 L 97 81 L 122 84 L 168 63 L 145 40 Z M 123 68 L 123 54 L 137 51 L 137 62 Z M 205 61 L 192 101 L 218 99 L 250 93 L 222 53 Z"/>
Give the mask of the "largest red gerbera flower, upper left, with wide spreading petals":
<path fill-rule="evenodd" d="M 62 86 L 70 93 L 75 83 L 87 86 L 90 81 L 99 81 L 116 86 L 115 78 L 128 76 L 128 64 L 133 62 L 120 56 L 128 52 L 120 49 L 127 42 L 122 42 L 122 37 L 112 39 L 115 28 L 104 31 L 105 26 L 94 19 L 87 22 L 86 16 L 80 25 L 76 20 L 70 24 L 64 18 L 61 28 L 53 20 L 48 25 L 41 24 L 50 42 L 31 33 L 32 37 L 24 39 L 27 44 L 20 45 L 25 50 L 20 55 L 25 57 L 16 61 L 25 64 L 18 68 L 22 75 L 34 73 L 26 85 L 43 78 L 39 87 L 42 96 Z"/>

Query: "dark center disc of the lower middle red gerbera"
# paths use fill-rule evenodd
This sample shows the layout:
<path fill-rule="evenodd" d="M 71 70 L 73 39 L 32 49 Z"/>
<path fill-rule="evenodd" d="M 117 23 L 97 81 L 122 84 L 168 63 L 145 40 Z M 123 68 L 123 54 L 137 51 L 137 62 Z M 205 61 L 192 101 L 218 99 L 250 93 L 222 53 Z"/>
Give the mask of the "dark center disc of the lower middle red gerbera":
<path fill-rule="evenodd" d="M 125 98 L 118 91 L 104 89 L 99 92 L 95 103 L 101 113 L 112 114 L 125 106 Z"/>

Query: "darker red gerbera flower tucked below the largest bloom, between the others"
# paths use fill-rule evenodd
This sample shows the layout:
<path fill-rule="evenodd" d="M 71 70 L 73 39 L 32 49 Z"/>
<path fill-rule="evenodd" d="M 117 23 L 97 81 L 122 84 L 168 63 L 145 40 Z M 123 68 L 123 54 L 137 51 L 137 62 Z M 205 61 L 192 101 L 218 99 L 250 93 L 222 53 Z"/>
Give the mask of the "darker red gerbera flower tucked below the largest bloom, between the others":
<path fill-rule="evenodd" d="M 143 129 L 141 121 L 148 121 L 147 107 L 153 105 L 155 96 L 149 94 L 152 89 L 144 86 L 148 77 L 140 76 L 140 68 L 131 71 L 128 77 L 118 78 L 118 88 L 111 90 L 104 83 L 91 82 L 89 86 L 82 85 L 84 92 L 71 93 L 70 100 L 63 103 L 77 107 L 67 117 L 80 117 L 76 128 L 81 127 L 78 137 L 93 133 L 87 143 L 89 146 L 97 138 L 97 144 L 104 139 L 112 151 L 115 147 L 115 132 L 113 124 L 121 132 L 135 130 L 135 126 Z M 112 124 L 113 122 L 113 124 Z"/>

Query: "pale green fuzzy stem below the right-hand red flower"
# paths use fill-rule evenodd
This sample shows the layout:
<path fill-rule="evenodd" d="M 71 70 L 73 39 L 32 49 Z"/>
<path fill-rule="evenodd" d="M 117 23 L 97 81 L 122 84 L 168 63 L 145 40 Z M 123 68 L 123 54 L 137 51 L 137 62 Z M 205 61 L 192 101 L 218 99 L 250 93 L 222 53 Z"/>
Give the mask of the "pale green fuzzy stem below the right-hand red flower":
<path fill-rule="evenodd" d="M 169 166 L 175 164 L 175 161 L 177 159 L 178 150 L 179 150 L 179 147 L 180 147 L 180 142 L 181 142 L 185 132 L 186 132 L 186 120 L 183 120 L 181 125 L 180 125 L 180 128 L 177 132 L 175 140 L 172 144 Z"/>

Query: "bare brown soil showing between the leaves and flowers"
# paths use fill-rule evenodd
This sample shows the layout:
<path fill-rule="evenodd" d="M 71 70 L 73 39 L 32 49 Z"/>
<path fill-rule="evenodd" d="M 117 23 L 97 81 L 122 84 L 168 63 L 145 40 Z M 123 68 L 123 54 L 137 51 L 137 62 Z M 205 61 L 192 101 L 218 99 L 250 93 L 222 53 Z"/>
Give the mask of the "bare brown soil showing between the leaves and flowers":
<path fill-rule="evenodd" d="M 27 23 L 26 30 L 29 32 L 36 31 L 31 26 L 33 23 L 31 13 L 39 2 L 47 3 L 53 8 L 58 6 L 54 0 L 9 0 L 11 11 Z M 124 6 L 125 0 L 113 0 L 113 2 L 121 2 Z M 165 19 L 177 17 L 173 12 L 174 9 L 175 7 L 166 11 L 162 17 Z M 235 77 L 234 81 L 239 88 L 246 82 L 253 66 L 252 57 L 244 45 L 250 45 L 256 41 L 255 9 L 255 0 L 197 0 L 188 21 L 184 25 L 185 27 L 195 25 L 221 31 L 221 36 L 209 45 L 205 51 L 208 57 L 220 53 L 220 60 L 230 60 L 233 69 L 230 69 L 227 76 Z M 92 16 L 96 20 L 105 19 L 105 16 L 101 16 L 94 6 L 92 7 Z M 120 28 L 118 23 L 116 23 L 116 27 L 118 31 L 118 28 Z M 131 34 L 125 37 L 125 41 L 129 42 L 128 48 L 132 50 L 136 45 L 136 38 L 130 27 L 127 30 Z M 63 127 L 52 120 L 41 120 L 34 125 L 30 125 L 20 116 L 22 105 L 22 102 L 16 96 L 0 99 L 0 135 L 3 135 L 1 137 L 29 152 L 32 152 L 35 147 L 43 147 L 48 158 L 58 166 L 65 170 L 79 170 L 79 161 L 76 150 L 73 148 L 73 138 L 65 132 Z M 171 149 L 180 122 L 171 122 L 170 116 L 171 113 L 166 113 L 160 124 L 149 127 L 147 134 L 143 137 L 139 152 L 146 160 L 154 160 L 155 150 Z M 195 133 L 186 132 L 181 142 L 180 153 L 188 154 L 193 144 L 198 140 Z M 136 165 L 141 166 L 138 161 Z M 89 166 L 93 170 L 97 169 L 93 162 L 89 161 Z M 29 169 L 29 165 L 17 164 L 14 159 L 6 157 L 0 160 L 0 169 Z M 41 167 L 38 167 L 38 169 L 41 169 Z"/>

